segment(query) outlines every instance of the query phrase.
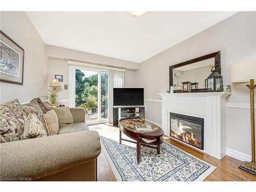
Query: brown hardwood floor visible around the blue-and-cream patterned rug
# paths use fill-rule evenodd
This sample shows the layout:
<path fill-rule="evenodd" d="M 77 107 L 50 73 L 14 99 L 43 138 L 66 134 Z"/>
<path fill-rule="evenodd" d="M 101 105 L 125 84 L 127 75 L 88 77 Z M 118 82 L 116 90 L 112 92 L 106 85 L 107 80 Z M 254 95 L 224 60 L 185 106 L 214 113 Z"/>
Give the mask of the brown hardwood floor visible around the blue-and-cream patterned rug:
<path fill-rule="evenodd" d="M 104 123 L 99 124 L 99 134 L 111 133 L 119 131 L 118 127 L 111 126 L 111 124 Z M 211 164 L 217 168 L 212 172 L 204 181 L 256 181 L 256 176 L 245 172 L 238 168 L 241 161 L 234 159 L 229 156 L 225 156 L 221 160 L 211 157 L 207 154 L 194 150 L 174 139 L 169 137 L 164 137 L 164 140 L 174 146 L 180 148 L 181 150 Z M 105 158 L 104 153 L 101 151 L 101 154 L 98 157 L 98 181 L 116 181 L 114 173 Z"/>

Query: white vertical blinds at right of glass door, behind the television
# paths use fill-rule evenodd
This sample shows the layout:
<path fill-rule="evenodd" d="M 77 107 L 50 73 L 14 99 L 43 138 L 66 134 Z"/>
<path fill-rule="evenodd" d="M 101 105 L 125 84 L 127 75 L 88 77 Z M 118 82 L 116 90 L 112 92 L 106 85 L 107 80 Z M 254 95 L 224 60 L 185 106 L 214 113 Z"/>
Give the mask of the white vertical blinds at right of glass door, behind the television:
<path fill-rule="evenodd" d="M 113 123 L 113 88 L 124 88 L 123 71 L 109 71 L 109 123 Z"/>

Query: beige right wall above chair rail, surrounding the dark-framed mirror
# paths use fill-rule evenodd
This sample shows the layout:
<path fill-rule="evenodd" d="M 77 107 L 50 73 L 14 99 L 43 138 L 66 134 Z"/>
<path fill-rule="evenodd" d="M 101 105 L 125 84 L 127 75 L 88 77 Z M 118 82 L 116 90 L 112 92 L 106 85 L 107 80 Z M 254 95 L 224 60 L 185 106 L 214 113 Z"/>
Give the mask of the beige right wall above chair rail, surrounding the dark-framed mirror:
<path fill-rule="evenodd" d="M 233 93 L 228 102 L 248 103 L 245 83 L 230 83 L 230 65 L 255 58 L 255 17 L 256 12 L 240 12 L 143 61 L 137 74 L 146 98 L 160 99 L 158 93 L 169 87 L 169 66 L 221 50 L 223 84 L 231 84 Z"/>

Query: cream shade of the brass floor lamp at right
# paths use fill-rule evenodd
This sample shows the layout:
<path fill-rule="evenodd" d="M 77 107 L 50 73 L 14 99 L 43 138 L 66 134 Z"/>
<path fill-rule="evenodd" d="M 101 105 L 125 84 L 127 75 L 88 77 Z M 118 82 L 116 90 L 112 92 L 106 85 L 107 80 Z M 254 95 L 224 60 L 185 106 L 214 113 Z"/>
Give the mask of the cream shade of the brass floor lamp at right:
<path fill-rule="evenodd" d="M 231 82 L 256 81 L 256 59 L 234 63 L 231 66 Z"/>

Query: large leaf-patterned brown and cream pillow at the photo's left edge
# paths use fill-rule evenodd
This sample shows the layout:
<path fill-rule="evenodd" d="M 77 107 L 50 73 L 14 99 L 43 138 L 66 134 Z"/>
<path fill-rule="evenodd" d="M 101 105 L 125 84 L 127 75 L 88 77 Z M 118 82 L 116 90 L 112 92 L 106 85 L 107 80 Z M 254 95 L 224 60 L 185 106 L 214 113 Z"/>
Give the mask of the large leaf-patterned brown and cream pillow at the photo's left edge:
<path fill-rule="evenodd" d="M 0 143 L 24 139 L 23 127 L 27 117 L 17 105 L 19 102 L 15 99 L 0 110 Z"/>

